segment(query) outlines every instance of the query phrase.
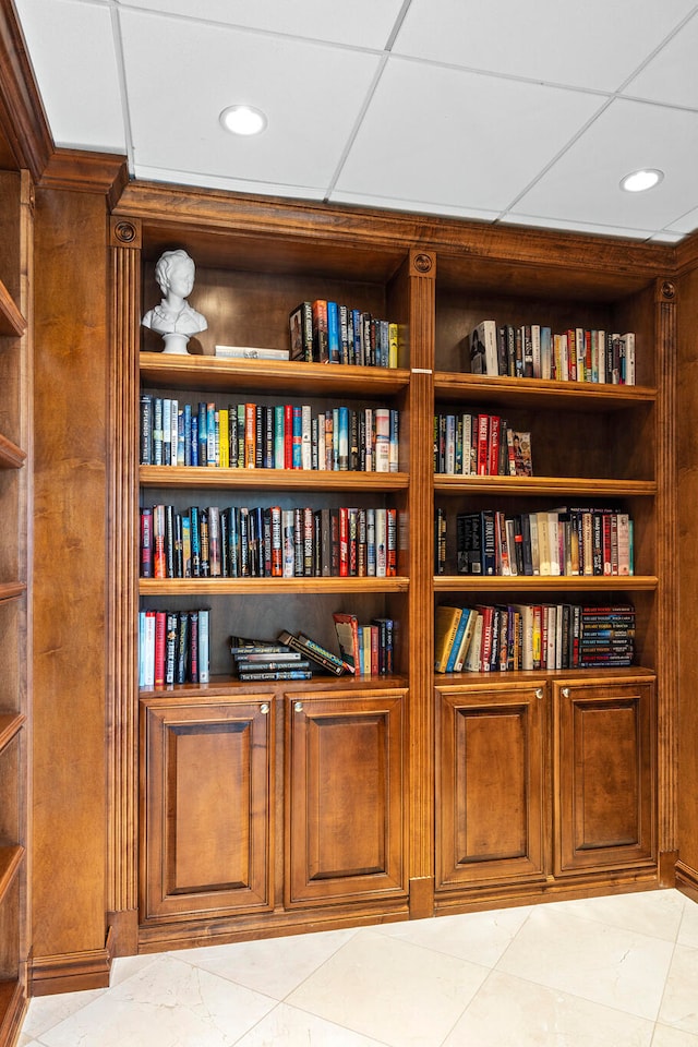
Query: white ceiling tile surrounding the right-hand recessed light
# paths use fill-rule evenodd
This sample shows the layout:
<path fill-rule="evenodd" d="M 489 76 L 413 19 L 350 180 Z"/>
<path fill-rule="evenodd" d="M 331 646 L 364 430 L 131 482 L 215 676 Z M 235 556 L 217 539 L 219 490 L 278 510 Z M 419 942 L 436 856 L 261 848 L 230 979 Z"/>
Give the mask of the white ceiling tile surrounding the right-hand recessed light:
<path fill-rule="evenodd" d="M 698 113 L 616 99 L 513 208 L 628 229 L 669 227 L 696 203 Z M 624 174 L 659 168 L 646 193 L 618 188 Z"/>

